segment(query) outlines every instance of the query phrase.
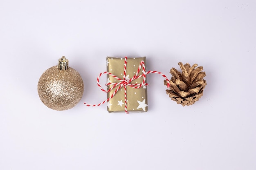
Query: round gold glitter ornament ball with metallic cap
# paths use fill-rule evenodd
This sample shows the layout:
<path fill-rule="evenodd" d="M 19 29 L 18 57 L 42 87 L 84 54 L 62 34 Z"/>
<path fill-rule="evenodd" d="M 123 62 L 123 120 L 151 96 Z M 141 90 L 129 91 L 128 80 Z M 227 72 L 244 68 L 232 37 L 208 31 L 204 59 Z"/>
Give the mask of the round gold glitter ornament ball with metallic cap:
<path fill-rule="evenodd" d="M 67 110 L 76 106 L 83 96 L 83 79 L 80 74 L 68 67 L 63 56 L 58 66 L 47 69 L 38 81 L 38 95 L 48 108 Z"/>

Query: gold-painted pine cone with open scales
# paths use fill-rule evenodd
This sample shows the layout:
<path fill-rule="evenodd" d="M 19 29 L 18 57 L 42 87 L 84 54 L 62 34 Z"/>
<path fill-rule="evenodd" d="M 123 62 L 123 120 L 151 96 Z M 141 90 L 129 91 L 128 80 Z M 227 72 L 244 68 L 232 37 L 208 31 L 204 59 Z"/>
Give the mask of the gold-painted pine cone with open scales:
<path fill-rule="evenodd" d="M 195 68 L 198 64 L 194 64 L 192 67 L 189 63 L 183 65 L 182 62 L 179 62 L 178 64 L 182 73 L 175 68 L 170 70 L 173 77 L 170 80 L 170 89 L 166 90 L 166 93 L 177 104 L 189 106 L 202 97 L 204 87 L 206 86 L 206 81 L 204 80 L 206 74 L 202 72 L 202 66 Z M 164 80 L 164 84 L 167 85 L 166 80 Z"/>

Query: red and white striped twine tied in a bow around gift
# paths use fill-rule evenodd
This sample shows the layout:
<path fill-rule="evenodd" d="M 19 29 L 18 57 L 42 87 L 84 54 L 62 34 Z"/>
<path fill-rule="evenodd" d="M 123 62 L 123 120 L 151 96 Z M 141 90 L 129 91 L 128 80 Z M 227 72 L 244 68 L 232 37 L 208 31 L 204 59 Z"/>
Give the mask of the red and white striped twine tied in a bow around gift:
<path fill-rule="evenodd" d="M 125 106 L 124 106 L 124 110 L 125 110 L 125 113 L 128 114 L 128 111 L 127 111 L 127 92 L 126 92 L 126 86 L 130 86 L 132 88 L 141 88 L 142 86 L 147 86 L 148 84 L 145 83 L 146 82 L 146 75 L 149 74 L 149 73 L 157 73 L 159 75 L 162 75 L 166 81 L 167 81 L 167 87 L 169 88 L 170 87 L 170 83 L 169 83 L 169 80 L 168 78 L 166 77 L 166 75 L 164 75 L 163 73 L 161 72 L 158 72 L 158 71 L 147 71 L 146 72 L 146 67 L 145 67 L 145 63 L 144 61 L 141 61 L 140 64 L 139 64 L 139 68 L 137 70 L 137 72 L 135 73 L 135 75 L 131 78 L 131 79 L 126 79 L 126 66 L 127 66 L 127 57 L 125 56 L 124 57 L 124 76 L 123 76 L 123 79 L 120 79 L 119 77 L 117 77 L 116 75 L 113 75 L 112 73 L 109 73 L 107 71 L 105 72 L 102 72 L 99 74 L 99 76 L 97 77 L 97 85 L 99 86 L 99 88 L 108 93 L 110 91 L 112 91 L 113 88 L 117 87 L 117 89 L 114 91 L 114 93 L 108 98 L 106 99 L 105 101 L 99 103 L 99 104 L 86 104 L 84 103 L 86 106 L 101 106 L 102 104 L 104 104 L 105 102 L 109 102 L 110 99 L 112 99 L 115 94 L 117 93 L 117 91 L 120 90 L 121 87 L 124 87 L 124 99 L 125 99 Z M 141 75 L 138 75 L 139 72 L 141 71 L 141 67 L 142 67 L 142 74 Z M 101 85 L 99 84 L 99 78 L 101 77 L 101 75 L 103 74 L 108 74 L 108 75 L 111 75 L 112 77 L 114 77 L 115 79 L 119 80 L 120 82 L 118 83 L 107 83 L 106 86 L 108 85 L 112 85 L 111 88 L 109 88 L 107 91 L 105 89 L 103 89 L 101 87 Z M 137 84 L 131 84 L 131 82 L 139 77 L 143 77 L 143 81 L 142 83 L 137 83 Z"/>

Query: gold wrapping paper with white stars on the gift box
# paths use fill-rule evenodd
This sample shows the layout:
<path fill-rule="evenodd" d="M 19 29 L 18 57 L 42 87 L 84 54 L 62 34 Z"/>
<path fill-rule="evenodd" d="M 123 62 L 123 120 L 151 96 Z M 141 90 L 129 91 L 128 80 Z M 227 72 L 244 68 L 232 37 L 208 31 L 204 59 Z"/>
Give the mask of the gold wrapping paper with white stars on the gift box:
<path fill-rule="evenodd" d="M 139 68 L 141 61 L 145 62 L 146 66 L 146 57 L 137 57 L 137 58 L 127 58 L 127 67 L 126 67 L 126 79 L 131 79 Z M 107 71 L 113 75 L 123 79 L 124 76 L 124 58 L 117 57 L 107 57 Z M 142 69 L 139 72 L 139 75 L 142 74 Z M 118 83 L 119 80 L 115 79 L 111 75 L 107 76 L 107 83 Z M 142 83 L 143 77 L 135 79 L 131 84 Z M 109 85 L 108 88 L 111 88 L 113 85 Z M 147 87 L 142 86 L 141 88 L 132 88 L 127 87 L 127 110 L 128 112 L 146 112 L 148 110 L 148 101 L 147 101 Z M 114 93 L 118 88 L 115 87 L 108 93 L 108 98 Z M 124 87 L 122 87 L 115 96 L 110 99 L 108 102 L 108 112 L 124 112 L 125 111 L 125 98 L 124 98 Z"/>

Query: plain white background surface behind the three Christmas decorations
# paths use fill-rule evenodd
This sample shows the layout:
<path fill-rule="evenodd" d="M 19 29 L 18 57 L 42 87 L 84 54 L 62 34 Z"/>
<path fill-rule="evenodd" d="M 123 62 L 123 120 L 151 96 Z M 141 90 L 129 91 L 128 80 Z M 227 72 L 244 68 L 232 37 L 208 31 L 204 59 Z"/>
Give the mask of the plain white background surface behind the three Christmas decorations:
<path fill-rule="evenodd" d="M 1 0 L 0 170 L 255 170 L 255 16 L 254 0 Z M 62 55 L 85 91 L 54 111 L 37 83 Z M 203 66 L 203 97 L 182 107 L 148 75 L 147 113 L 84 106 L 106 99 L 106 56 L 125 55 L 169 78 Z"/>

